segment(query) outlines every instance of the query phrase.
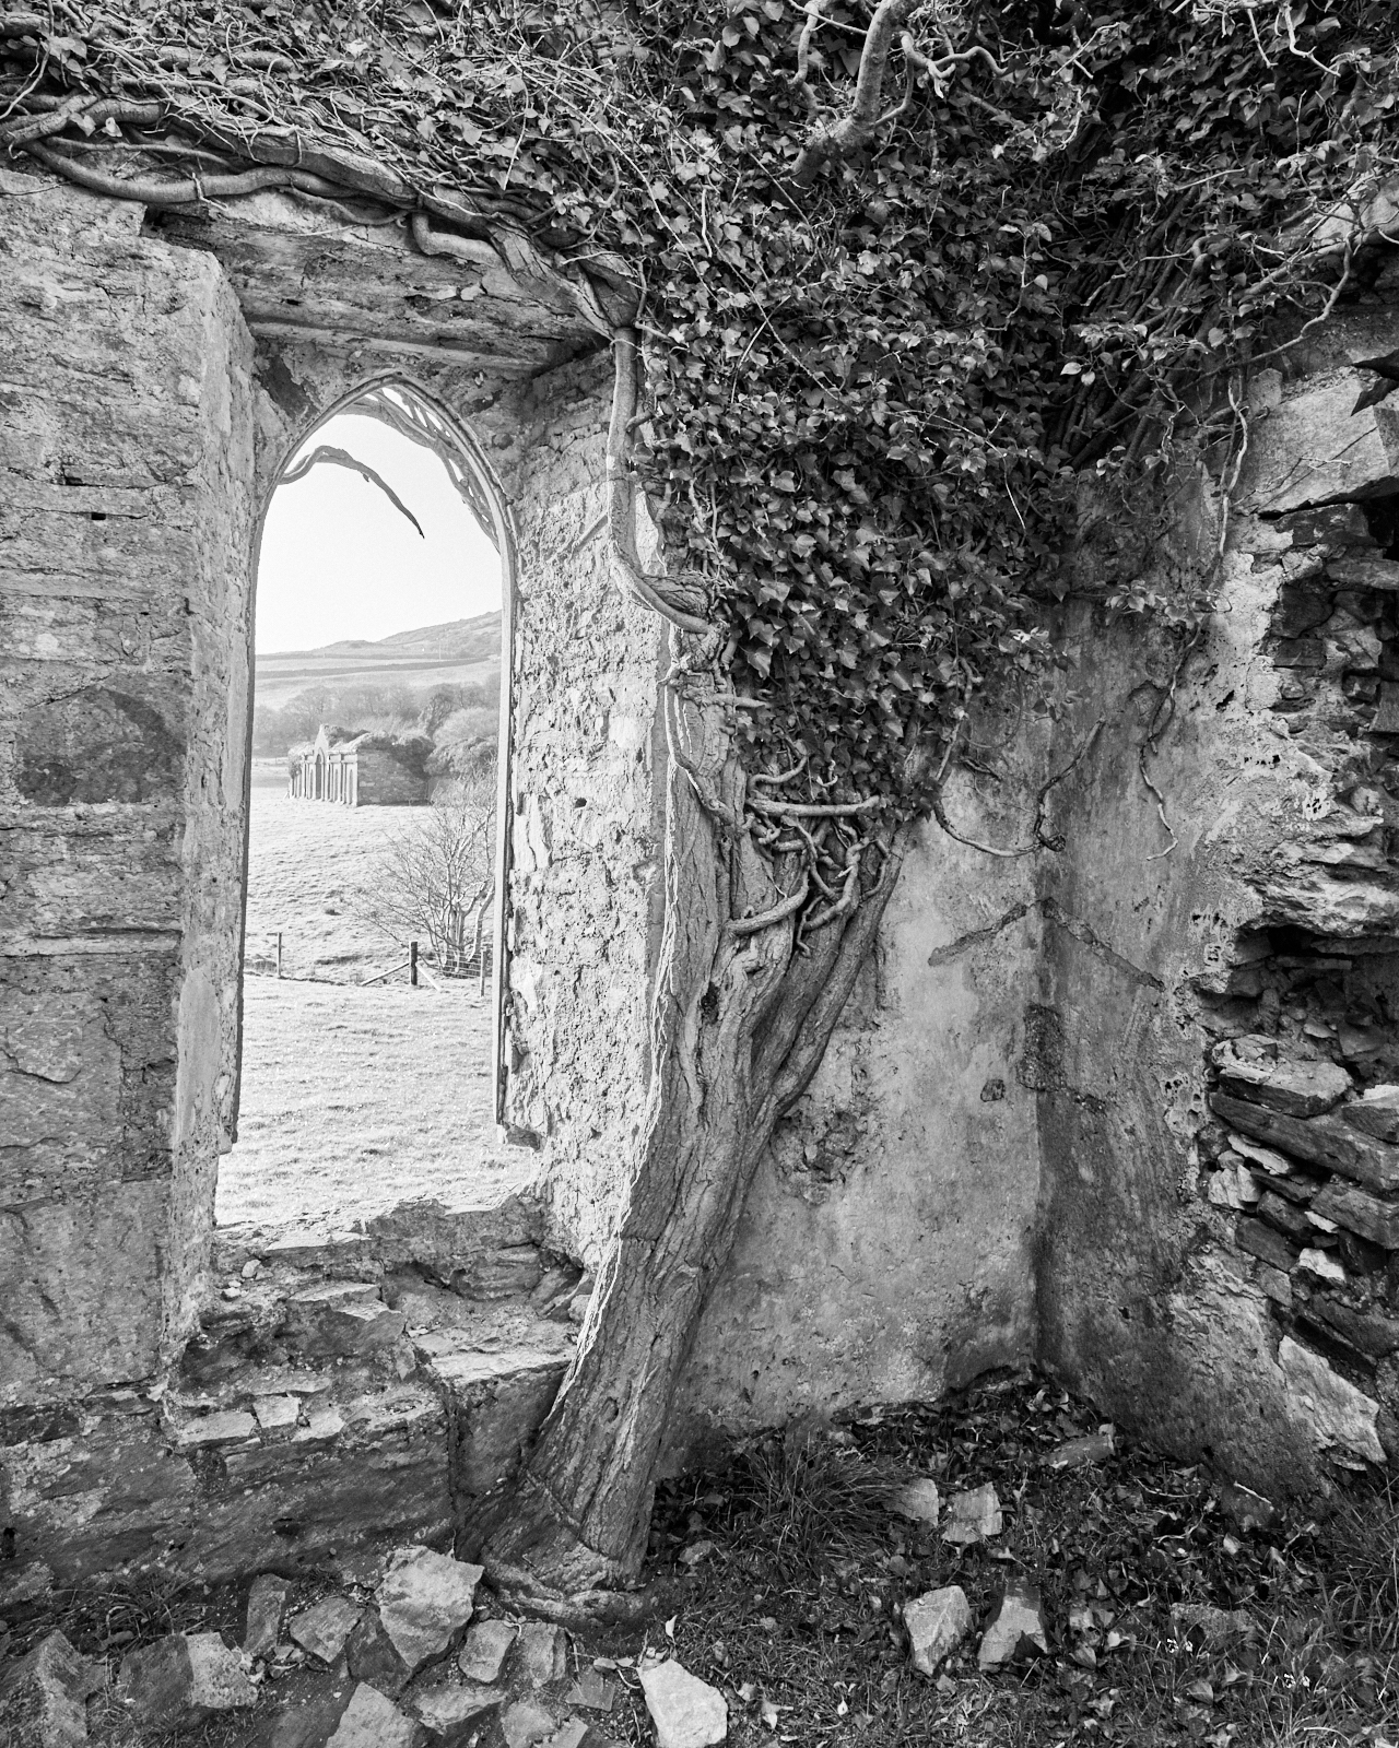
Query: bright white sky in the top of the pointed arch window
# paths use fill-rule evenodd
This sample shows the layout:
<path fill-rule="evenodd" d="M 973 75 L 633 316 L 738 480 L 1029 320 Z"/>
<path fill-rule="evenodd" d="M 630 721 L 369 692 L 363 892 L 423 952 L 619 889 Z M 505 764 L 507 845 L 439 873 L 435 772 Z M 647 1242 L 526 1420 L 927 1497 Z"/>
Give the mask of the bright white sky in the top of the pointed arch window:
<path fill-rule="evenodd" d="M 318 461 L 304 479 L 278 486 L 257 566 L 259 654 L 386 638 L 500 607 L 495 547 L 430 451 L 353 413 L 318 427 L 297 458 L 317 444 L 367 461 L 427 538 L 346 467 Z"/>

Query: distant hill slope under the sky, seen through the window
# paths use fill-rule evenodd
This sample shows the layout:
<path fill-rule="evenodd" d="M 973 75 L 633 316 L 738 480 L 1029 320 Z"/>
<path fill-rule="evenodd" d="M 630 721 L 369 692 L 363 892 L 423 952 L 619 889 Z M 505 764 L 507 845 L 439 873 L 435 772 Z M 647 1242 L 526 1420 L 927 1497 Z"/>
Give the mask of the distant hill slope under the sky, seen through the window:
<path fill-rule="evenodd" d="M 310 685 L 388 685 L 414 692 L 470 682 L 495 685 L 500 675 L 500 614 L 451 619 L 395 631 L 388 638 L 341 638 L 311 650 L 257 657 L 259 704 L 280 708 Z"/>

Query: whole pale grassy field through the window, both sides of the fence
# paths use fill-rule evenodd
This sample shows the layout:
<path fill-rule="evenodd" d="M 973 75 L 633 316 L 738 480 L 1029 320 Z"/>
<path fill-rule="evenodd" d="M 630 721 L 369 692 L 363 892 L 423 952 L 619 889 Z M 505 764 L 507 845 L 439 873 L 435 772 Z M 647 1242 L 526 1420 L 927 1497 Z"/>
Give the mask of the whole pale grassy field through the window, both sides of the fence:
<path fill-rule="evenodd" d="M 278 776 L 259 760 L 243 1089 L 219 1224 L 346 1227 L 423 1197 L 497 1203 L 528 1182 L 533 1155 L 495 1136 L 490 991 L 470 979 L 413 989 L 406 972 L 358 988 L 404 956 L 357 902 L 383 844 L 421 809 L 289 801 Z M 254 968 L 275 928 L 282 979 Z"/>

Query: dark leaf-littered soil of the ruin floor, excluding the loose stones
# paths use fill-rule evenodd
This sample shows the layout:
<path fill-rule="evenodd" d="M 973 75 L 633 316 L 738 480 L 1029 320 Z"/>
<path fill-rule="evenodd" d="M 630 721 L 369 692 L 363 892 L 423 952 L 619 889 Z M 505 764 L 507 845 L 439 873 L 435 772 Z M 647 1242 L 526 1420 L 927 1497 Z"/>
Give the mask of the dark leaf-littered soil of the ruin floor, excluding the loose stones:
<path fill-rule="evenodd" d="M 1117 1437 L 1116 1453 L 1063 1463 L 1095 1432 L 1091 1405 L 1051 1379 L 983 1379 L 941 1404 L 867 1409 L 836 1426 L 750 1442 L 706 1474 L 668 1482 L 652 1517 L 649 1619 L 570 1638 L 568 1675 L 533 1692 L 563 1718 L 589 1664 L 617 1685 L 591 1743 L 656 1741 L 637 1682 L 647 1654 L 673 1655 L 717 1687 L 731 1748 L 1394 1748 L 1399 1741 L 1399 1502 L 1373 1484 L 1313 1514 L 1257 1523 L 1217 1477 Z M 1004 1528 L 951 1547 L 936 1526 L 888 1507 L 899 1481 L 934 1477 L 944 1496 L 990 1482 Z M 1247 1523 L 1245 1523 L 1247 1519 Z M 360 1559 L 301 1578 L 292 1613 L 327 1591 L 371 1599 Z M 997 1671 L 976 1648 L 1009 1580 L 1042 1596 L 1048 1652 Z M 906 1598 L 962 1585 L 972 1629 L 936 1676 L 909 1666 Z M 1180 1605 L 1228 1612 L 1228 1631 L 1191 1626 Z M 112 1666 L 170 1631 L 222 1629 L 236 1643 L 245 1589 L 171 1591 L 159 1577 L 82 1585 L 12 1620 L 23 1652 L 59 1626 Z M 477 1619 L 502 1613 L 490 1594 Z M 262 1666 L 252 1713 L 140 1738 L 110 1699 L 93 1741 L 110 1748 L 269 1748 L 289 1703 L 345 1682 L 315 1673 L 283 1640 Z M 451 1664 L 414 1690 L 455 1680 Z M 317 1739 L 318 1741 L 318 1739 Z M 0 1725 L 0 1748 L 5 1732 Z M 500 1748 L 498 1720 L 472 1727 Z M 310 1745 L 308 1745 L 310 1748 Z M 463 1741 L 462 1748 L 467 1748 Z"/>

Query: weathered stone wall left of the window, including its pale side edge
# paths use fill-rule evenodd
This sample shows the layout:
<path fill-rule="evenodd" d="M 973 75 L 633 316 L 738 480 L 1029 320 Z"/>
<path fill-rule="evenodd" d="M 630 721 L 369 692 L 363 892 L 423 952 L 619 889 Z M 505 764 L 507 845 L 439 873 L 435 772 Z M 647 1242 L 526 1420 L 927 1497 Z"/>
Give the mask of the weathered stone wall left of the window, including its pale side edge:
<path fill-rule="evenodd" d="M 241 928 L 248 337 L 212 260 L 5 171 L 0 1404 L 192 1323 Z M 240 449 L 240 444 L 243 446 Z"/>

